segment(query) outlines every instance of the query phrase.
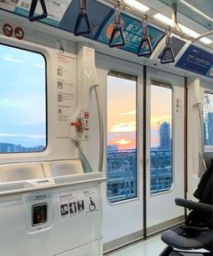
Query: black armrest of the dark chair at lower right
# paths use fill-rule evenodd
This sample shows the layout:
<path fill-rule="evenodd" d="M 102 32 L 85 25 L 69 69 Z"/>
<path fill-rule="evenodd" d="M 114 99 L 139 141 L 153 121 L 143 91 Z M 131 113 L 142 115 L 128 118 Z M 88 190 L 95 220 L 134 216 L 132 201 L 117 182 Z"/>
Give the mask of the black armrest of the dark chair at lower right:
<path fill-rule="evenodd" d="M 213 205 L 212 204 L 203 204 L 203 203 L 193 202 L 193 201 L 182 199 L 182 198 L 175 198 L 175 204 L 182 206 L 182 207 L 186 207 L 189 210 L 197 210 L 200 212 L 213 214 Z"/>

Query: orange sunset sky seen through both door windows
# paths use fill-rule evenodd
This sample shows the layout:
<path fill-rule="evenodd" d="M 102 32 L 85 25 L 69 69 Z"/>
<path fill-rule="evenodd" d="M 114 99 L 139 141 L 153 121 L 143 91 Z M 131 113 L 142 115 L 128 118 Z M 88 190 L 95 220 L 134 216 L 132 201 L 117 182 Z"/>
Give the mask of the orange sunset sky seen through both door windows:
<path fill-rule="evenodd" d="M 151 87 L 151 147 L 159 145 L 159 127 L 171 122 L 171 89 Z M 135 148 L 136 81 L 107 78 L 107 145 Z"/>

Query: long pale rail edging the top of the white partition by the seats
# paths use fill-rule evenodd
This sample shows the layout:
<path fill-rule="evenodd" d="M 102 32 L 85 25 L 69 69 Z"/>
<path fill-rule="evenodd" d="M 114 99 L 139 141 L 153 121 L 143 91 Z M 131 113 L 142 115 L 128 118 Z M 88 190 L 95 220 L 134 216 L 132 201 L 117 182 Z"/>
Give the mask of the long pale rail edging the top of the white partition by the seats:
<path fill-rule="evenodd" d="M 40 191 L 45 191 L 49 190 L 52 188 L 61 188 L 61 187 L 67 187 L 70 185 L 82 185 L 86 183 L 92 183 L 92 182 L 98 182 L 102 183 L 106 181 L 106 178 L 100 177 L 100 178 L 93 178 L 89 180 L 83 180 L 83 181 L 75 181 L 75 182 L 68 182 L 68 183 L 63 183 L 59 185 L 42 185 L 40 187 L 30 187 L 30 188 L 22 188 L 22 189 L 15 189 L 15 190 L 9 190 L 9 191 L 4 191 L 0 192 L 0 198 L 4 196 L 10 196 L 10 195 L 18 195 L 18 194 L 28 194 L 32 192 L 40 192 Z"/>

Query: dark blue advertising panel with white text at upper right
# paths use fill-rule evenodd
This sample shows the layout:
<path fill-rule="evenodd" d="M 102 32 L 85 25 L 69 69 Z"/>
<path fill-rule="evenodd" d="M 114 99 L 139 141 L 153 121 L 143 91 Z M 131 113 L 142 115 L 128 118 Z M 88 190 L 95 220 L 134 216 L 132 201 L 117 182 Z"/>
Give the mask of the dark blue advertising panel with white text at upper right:
<path fill-rule="evenodd" d="M 213 54 L 193 44 L 190 44 L 175 66 L 213 79 Z"/>

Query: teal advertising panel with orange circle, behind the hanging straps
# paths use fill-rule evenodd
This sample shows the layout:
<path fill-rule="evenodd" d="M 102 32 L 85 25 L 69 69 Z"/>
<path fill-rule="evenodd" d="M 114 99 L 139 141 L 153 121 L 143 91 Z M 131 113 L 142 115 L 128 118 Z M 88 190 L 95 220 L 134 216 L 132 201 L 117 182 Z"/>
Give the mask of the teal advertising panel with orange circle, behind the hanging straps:
<path fill-rule="evenodd" d="M 142 36 L 143 36 L 143 27 L 142 23 L 138 20 L 135 20 L 133 17 L 128 16 L 126 14 L 122 14 L 121 24 L 125 35 L 125 45 L 121 46 L 120 48 L 127 51 L 127 52 L 134 52 L 137 53 L 138 47 L 141 43 Z M 111 34 L 113 32 L 115 25 L 115 13 L 113 13 L 106 23 L 102 26 L 102 29 L 97 34 L 97 41 L 101 43 L 109 42 Z M 153 49 L 156 45 L 162 40 L 162 37 L 165 35 L 159 29 L 154 28 L 153 26 L 148 26 L 148 31 L 151 37 L 151 43 Z M 117 34 L 117 41 L 119 41 L 119 34 Z M 116 40 L 115 40 L 116 43 Z"/>

